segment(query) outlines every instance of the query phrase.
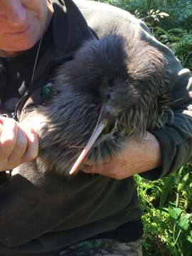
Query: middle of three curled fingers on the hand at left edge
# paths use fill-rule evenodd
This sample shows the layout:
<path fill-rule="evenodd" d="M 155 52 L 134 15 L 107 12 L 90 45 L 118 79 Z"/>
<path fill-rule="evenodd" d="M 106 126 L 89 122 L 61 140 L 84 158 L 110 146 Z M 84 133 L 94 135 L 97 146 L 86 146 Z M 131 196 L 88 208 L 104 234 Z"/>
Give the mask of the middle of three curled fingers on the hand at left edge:
<path fill-rule="evenodd" d="M 17 138 L 16 138 L 16 146 L 14 147 L 14 150 L 9 155 L 9 163 L 13 165 L 13 167 L 18 166 L 18 164 L 21 164 L 21 158 L 23 154 L 25 153 L 27 149 L 27 138 L 26 133 L 23 132 L 23 129 L 18 126 L 17 130 Z"/>

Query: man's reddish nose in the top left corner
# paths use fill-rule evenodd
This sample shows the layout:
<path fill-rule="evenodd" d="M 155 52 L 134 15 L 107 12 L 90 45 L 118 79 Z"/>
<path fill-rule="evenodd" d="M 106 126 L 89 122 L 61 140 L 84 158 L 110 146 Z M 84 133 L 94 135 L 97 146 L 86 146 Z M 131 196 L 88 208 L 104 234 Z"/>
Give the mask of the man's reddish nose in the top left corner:
<path fill-rule="evenodd" d="M 26 20 L 26 9 L 21 0 L 0 0 L 0 19 L 20 26 Z"/>

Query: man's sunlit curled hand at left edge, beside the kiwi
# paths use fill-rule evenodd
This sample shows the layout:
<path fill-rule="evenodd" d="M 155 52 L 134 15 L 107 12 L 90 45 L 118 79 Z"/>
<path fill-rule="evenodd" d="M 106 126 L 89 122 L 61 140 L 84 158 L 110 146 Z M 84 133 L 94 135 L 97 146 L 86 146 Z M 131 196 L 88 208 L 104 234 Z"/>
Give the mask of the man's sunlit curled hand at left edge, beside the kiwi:
<path fill-rule="evenodd" d="M 29 124 L 0 116 L 0 171 L 9 171 L 38 155 L 36 132 Z"/>

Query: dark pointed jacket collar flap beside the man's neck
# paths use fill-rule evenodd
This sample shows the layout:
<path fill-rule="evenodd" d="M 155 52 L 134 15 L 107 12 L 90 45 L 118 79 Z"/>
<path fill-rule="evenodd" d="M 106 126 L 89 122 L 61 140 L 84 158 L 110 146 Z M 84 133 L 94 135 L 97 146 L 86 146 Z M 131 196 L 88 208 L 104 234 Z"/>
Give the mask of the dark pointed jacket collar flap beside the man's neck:
<path fill-rule="evenodd" d="M 53 20 L 53 46 L 48 48 L 40 59 L 34 82 L 48 75 L 54 65 L 63 63 L 73 56 L 82 43 L 95 38 L 95 33 L 87 25 L 78 7 L 72 0 L 52 0 L 54 10 Z"/>

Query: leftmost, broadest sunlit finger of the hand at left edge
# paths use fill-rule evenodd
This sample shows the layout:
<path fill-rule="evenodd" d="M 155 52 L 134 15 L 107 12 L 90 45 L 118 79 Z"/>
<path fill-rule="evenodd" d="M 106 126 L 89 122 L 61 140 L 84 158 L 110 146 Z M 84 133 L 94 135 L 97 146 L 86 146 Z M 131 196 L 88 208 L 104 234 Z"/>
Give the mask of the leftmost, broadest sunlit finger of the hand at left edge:
<path fill-rule="evenodd" d="M 13 151 L 16 145 L 16 134 L 18 126 L 16 121 L 11 118 L 0 117 L 1 137 L 0 137 L 0 152 L 1 158 L 7 158 Z"/>

